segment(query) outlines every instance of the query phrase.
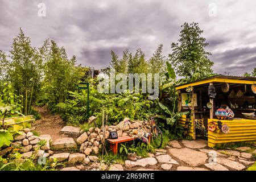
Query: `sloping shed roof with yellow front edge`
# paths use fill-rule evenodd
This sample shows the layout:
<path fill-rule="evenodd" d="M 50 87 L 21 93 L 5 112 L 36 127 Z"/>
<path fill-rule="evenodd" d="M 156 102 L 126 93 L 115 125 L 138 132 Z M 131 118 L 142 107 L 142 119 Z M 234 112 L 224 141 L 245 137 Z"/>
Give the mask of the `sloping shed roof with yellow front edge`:
<path fill-rule="evenodd" d="M 214 75 L 200 80 L 176 86 L 176 90 L 187 88 L 188 86 L 203 85 L 210 82 L 228 82 L 234 84 L 256 84 L 256 77 Z"/>

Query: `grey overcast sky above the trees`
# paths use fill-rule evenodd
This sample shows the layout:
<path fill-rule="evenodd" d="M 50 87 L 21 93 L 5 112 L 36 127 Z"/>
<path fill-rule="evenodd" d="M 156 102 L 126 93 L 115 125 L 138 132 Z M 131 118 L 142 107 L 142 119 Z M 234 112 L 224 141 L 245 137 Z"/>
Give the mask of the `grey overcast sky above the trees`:
<path fill-rule="evenodd" d="M 46 17 L 38 15 L 39 3 L 45 3 Z M 121 55 L 124 49 L 141 48 L 150 57 L 163 44 L 167 56 L 181 24 L 198 22 L 214 72 L 242 75 L 256 67 L 255 7 L 254 0 L 0 0 L 0 49 L 9 52 L 22 27 L 32 46 L 53 39 L 69 57 L 101 69 L 109 64 L 112 49 Z"/>

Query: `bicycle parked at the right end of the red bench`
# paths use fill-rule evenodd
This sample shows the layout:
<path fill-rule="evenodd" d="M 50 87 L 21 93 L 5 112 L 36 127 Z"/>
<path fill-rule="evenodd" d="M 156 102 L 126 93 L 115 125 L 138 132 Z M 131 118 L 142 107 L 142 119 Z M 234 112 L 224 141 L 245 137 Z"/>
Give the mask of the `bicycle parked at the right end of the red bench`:
<path fill-rule="evenodd" d="M 152 140 L 152 143 L 153 145 L 156 147 L 156 148 L 160 148 L 162 146 L 162 143 L 163 143 L 163 134 L 162 134 L 162 131 L 159 129 L 158 126 L 156 126 L 156 123 L 155 123 L 155 119 L 156 116 L 154 117 L 150 117 L 150 123 L 151 123 L 151 140 Z"/>

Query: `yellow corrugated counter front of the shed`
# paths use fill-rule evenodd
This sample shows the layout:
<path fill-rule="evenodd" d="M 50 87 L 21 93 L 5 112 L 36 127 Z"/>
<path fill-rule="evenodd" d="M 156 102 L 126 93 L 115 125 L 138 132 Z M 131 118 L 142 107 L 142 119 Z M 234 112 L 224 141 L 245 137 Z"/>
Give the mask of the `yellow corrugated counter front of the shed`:
<path fill-rule="evenodd" d="M 229 126 L 230 131 L 228 134 L 223 133 L 218 129 L 217 121 L 221 121 L 222 125 Z M 209 122 L 214 122 L 217 126 L 215 131 L 208 130 L 208 146 L 214 147 L 216 144 L 229 143 L 229 142 L 255 142 L 256 141 L 256 120 L 252 119 L 233 119 L 219 120 L 208 119 Z"/>

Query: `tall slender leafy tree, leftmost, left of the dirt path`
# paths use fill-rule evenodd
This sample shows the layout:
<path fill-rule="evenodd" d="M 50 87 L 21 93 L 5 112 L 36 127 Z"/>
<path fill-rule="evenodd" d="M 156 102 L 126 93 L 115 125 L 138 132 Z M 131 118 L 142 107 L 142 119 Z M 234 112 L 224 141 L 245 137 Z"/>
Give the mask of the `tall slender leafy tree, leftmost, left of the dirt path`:
<path fill-rule="evenodd" d="M 9 56 L 11 60 L 7 70 L 8 80 L 13 84 L 18 95 L 23 96 L 22 113 L 28 115 L 39 94 L 42 63 L 38 51 L 31 47 L 30 38 L 24 35 L 21 28 L 19 35 L 13 40 Z"/>

